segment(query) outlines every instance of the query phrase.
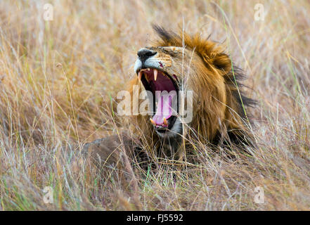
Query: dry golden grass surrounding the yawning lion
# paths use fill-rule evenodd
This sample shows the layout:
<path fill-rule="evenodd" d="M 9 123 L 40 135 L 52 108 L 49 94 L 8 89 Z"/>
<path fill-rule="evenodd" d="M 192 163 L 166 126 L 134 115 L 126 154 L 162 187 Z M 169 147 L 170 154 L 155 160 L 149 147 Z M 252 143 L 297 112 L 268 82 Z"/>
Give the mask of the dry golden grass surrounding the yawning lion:
<path fill-rule="evenodd" d="M 310 209 L 309 1 L 51 1 L 52 21 L 45 3 L 0 1 L 0 210 Z M 75 172 L 79 146 L 122 129 L 113 99 L 152 23 L 226 45 L 258 101 L 258 148 L 229 160 L 198 146 L 201 163 L 176 179 L 162 167 L 129 186 L 85 165 Z"/>

